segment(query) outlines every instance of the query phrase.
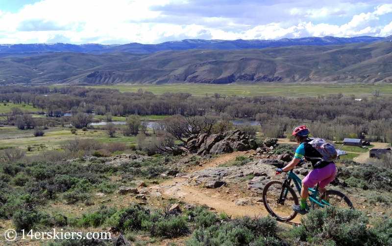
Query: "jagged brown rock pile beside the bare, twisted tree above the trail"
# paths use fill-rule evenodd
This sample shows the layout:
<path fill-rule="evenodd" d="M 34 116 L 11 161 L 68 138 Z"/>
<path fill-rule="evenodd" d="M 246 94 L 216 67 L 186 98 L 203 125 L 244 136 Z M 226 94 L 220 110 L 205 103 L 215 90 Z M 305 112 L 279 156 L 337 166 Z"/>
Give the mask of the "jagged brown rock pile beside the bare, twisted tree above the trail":
<path fill-rule="evenodd" d="M 230 153 L 233 150 L 247 151 L 256 148 L 254 139 L 240 130 L 232 130 L 220 134 L 195 134 L 187 140 L 187 149 L 191 153 L 206 156 L 208 154 Z"/>

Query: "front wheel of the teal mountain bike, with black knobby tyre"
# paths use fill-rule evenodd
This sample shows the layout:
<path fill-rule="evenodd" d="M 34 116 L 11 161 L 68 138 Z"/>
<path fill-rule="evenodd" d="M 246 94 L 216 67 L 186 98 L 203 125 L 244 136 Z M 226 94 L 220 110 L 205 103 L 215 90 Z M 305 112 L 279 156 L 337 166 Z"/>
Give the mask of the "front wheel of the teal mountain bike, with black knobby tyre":
<path fill-rule="evenodd" d="M 279 201 L 280 194 L 283 190 L 283 196 Z M 283 183 L 279 181 L 270 181 L 263 189 L 263 203 L 271 216 L 281 222 L 291 221 L 297 215 L 291 205 L 298 205 L 298 197 L 293 188 L 290 186 L 283 187 Z"/>

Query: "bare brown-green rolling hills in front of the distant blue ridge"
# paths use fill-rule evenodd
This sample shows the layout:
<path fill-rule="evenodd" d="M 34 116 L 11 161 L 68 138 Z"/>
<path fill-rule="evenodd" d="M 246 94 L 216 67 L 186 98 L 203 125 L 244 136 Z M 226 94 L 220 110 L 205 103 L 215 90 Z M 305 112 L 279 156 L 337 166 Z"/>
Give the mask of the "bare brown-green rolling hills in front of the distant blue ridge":
<path fill-rule="evenodd" d="M 116 46 L 118 47 L 118 46 Z M 115 48 L 116 48 L 115 47 Z M 0 59 L 0 84 L 392 83 L 392 42 Z"/>

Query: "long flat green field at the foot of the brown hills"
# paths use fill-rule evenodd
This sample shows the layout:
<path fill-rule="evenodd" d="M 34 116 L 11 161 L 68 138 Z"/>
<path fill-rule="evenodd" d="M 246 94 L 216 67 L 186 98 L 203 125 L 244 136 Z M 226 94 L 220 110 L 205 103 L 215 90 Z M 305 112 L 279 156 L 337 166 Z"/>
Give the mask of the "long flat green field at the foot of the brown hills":
<path fill-rule="evenodd" d="M 286 97 L 307 97 L 317 95 L 338 94 L 342 92 L 344 96 L 355 94 L 357 97 L 373 96 L 372 91 L 380 90 L 380 96 L 392 95 L 392 85 L 366 85 L 366 84 L 335 84 L 319 83 L 312 84 L 257 84 L 257 85 L 206 85 L 206 84 L 183 84 L 183 85 L 115 85 L 115 86 L 87 86 L 88 88 L 110 88 L 119 89 L 122 92 L 136 92 L 139 88 L 152 91 L 155 94 L 164 92 L 189 92 L 194 96 L 205 96 L 207 93 L 212 96 L 215 92 L 221 95 L 238 96 L 286 96 Z"/>

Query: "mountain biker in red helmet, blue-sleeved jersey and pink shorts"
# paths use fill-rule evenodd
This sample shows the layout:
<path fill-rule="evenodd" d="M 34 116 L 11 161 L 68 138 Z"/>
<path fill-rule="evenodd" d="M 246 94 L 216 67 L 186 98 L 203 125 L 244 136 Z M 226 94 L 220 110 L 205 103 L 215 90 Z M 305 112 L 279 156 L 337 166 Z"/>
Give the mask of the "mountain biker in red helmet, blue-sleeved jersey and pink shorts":
<path fill-rule="evenodd" d="M 329 184 L 332 180 L 335 179 L 336 176 L 336 166 L 334 162 L 327 162 L 320 159 L 311 159 L 309 157 L 319 157 L 321 158 L 321 154 L 313 148 L 308 142 L 310 139 L 308 138 L 309 130 L 306 126 L 298 126 L 293 131 L 293 136 L 298 144 L 298 148 L 295 151 L 295 155 L 292 161 L 290 161 L 287 166 L 283 168 L 278 168 L 276 171 L 279 173 L 286 172 L 292 170 L 298 163 L 301 163 L 304 159 L 310 161 L 313 166 L 313 170 L 302 180 L 302 189 L 301 189 L 301 203 L 300 205 L 292 205 L 292 208 L 295 212 L 299 214 L 306 214 L 306 199 L 309 196 L 308 187 L 314 187 L 318 182 L 319 183 L 319 191 L 323 193 L 326 191 L 325 186 Z M 327 198 L 326 202 L 329 199 Z"/>

